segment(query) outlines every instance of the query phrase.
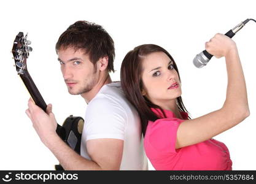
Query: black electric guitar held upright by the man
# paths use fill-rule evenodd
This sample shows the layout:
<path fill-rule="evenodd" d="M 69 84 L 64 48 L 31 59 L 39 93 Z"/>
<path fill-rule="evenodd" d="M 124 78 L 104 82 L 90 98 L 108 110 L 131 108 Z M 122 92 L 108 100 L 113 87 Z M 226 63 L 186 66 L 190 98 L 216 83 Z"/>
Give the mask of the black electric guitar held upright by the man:
<path fill-rule="evenodd" d="M 39 90 L 34 84 L 31 76 L 29 75 L 28 69 L 26 67 L 26 59 L 29 56 L 29 52 L 32 51 L 32 47 L 28 45 L 31 44 L 29 40 L 23 35 L 22 32 L 18 33 L 14 40 L 14 46 L 12 47 L 12 54 L 14 55 L 15 67 L 20 76 L 21 80 L 25 84 L 31 98 L 35 102 L 36 105 L 41 107 L 44 112 L 46 112 L 47 104 L 42 98 Z M 83 118 L 82 117 L 73 117 L 70 115 L 64 121 L 63 125 L 57 124 L 56 133 L 60 138 L 72 148 L 72 150 L 76 151 L 80 155 L 80 144 L 82 137 L 82 129 L 83 129 Z M 55 165 L 55 169 L 57 171 L 63 171 L 63 167 L 58 164 Z"/>

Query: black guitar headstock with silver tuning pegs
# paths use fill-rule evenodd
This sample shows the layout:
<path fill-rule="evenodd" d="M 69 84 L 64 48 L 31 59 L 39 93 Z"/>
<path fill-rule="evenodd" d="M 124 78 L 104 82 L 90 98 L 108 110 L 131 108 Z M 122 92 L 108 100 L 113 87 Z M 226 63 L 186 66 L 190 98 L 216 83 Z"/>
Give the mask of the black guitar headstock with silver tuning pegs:
<path fill-rule="evenodd" d="M 18 33 L 14 40 L 14 46 L 12 47 L 12 54 L 14 55 L 15 66 L 18 74 L 23 74 L 26 68 L 26 59 L 29 56 L 29 52 L 32 51 L 32 47 L 28 45 L 31 44 L 29 40 L 23 35 L 22 32 Z"/>

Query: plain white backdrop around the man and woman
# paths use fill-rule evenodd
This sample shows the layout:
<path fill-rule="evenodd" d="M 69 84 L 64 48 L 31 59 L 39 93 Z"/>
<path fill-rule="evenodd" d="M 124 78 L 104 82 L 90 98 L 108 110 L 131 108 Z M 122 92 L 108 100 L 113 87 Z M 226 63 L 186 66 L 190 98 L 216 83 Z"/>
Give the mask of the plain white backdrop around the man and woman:
<path fill-rule="evenodd" d="M 52 170 L 58 160 L 46 148 L 25 114 L 29 94 L 15 71 L 12 44 L 28 34 L 33 52 L 28 71 L 45 102 L 53 104 L 58 123 L 68 115 L 83 117 L 86 104 L 71 96 L 60 72 L 55 43 L 77 20 L 102 25 L 115 42 L 115 74 L 125 54 L 140 44 L 158 44 L 173 55 L 182 79 L 182 98 L 193 118 L 222 107 L 227 88 L 225 60 L 212 58 L 197 69 L 195 55 L 215 33 L 225 34 L 246 18 L 256 19 L 254 1 L 1 1 L 1 170 Z M 244 68 L 250 117 L 215 139 L 230 150 L 234 170 L 256 169 L 256 23 L 233 37 Z M 157 87 L 157 86 L 156 86 Z M 193 159 L 193 158 L 192 158 Z M 150 169 L 153 169 L 150 166 Z"/>

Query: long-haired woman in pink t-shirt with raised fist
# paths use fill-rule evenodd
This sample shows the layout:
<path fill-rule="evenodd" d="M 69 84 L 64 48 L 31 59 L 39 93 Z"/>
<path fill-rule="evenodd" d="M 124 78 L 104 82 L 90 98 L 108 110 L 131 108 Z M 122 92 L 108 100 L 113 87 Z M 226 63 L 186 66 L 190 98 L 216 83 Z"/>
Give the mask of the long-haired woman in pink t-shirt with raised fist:
<path fill-rule="evenodd" d="M 122 88 L 139 112 L 145 153 L 156 170 L 231 170 L 228 148 L 212 137 L 249 116 L 246 82 L 233 40 L 216 34 L 206 50 L 225 56 L 227 96 L 221 109 L 193 120 L 180 96 L 176 63 L 165 49 L 140 45 L 123 59 Z"/>

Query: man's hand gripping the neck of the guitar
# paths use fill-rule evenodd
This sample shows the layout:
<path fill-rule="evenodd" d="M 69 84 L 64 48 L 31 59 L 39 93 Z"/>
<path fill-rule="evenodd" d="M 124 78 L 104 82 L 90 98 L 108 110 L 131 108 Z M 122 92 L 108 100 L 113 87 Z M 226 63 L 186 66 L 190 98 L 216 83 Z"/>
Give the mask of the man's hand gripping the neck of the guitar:
<path fill-rule="evenodd" d="M 47 105 L 46 112 L 34 104 L 33 100 L 29 98 L 26 115 L 32 121 L 33 127 L 41 141 L 48 147 L 48 141 L 51 140 L 51 137 L 58 136 L 58 134 L 56 134 L 57 123 L 52 113 L 52 104 Z"/>

